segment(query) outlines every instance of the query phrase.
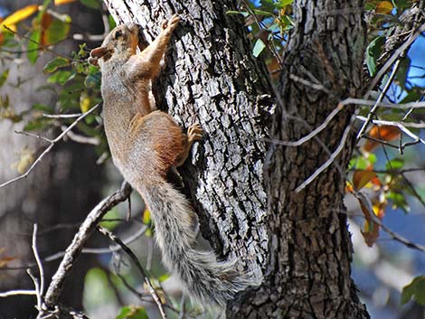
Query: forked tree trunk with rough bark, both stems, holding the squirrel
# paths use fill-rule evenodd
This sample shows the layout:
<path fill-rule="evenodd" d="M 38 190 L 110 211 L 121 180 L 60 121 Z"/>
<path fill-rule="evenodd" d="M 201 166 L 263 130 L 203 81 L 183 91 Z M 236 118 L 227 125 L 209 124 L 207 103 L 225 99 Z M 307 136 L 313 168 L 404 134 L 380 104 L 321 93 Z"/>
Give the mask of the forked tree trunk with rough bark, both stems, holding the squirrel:
<path fill-rule="evenodd" d="M 261 138 L 267 136 L 274 93 L 263 63 L 250 53 L 243 21 L 225 14 L 234 4 L 106 3 L 118 21 L 146 26 L 148 40 L 165 16 L 177 12 L 184 19 L 156 83 L 158 107 L 168 108 L 185 127 L 199 121 L 207 133 L 192 164 L 182 170 L 204 237 L 218 253 L 238 256 L 264 278 L 228 305 L 227 317 L 367 318 L 350 277 L 352 247 L 341 213 L 353 138 L 337 164 L 295 192 L 335 151 L 352 112 L 305 145 L 271 145 L 264 183 Z M 271 136 L 285 141 L 306 136 L 339 100 L 361 95 L 363 5 L 362 0 L 295 1 Z M 317 80 L 332 93 L 301 84 L 300 78 Z"/>

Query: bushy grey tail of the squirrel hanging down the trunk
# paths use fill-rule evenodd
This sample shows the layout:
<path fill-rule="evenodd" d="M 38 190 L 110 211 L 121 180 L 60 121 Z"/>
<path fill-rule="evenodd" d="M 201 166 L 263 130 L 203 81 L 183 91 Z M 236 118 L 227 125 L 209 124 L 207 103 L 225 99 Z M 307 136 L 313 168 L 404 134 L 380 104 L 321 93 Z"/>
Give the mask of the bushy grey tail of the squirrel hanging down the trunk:
<path fill-rule="evenodd" d="M 213 251 L 194 249 L 194 211 L 170 183 L 143 185 L 139 191 L 155 222 L 163 261 L 178 275 L 187 293 L 202 303 L 225 305 L 238 291 L 253 284 L 235 269 L 235 261 L 216 261 Z"/>

